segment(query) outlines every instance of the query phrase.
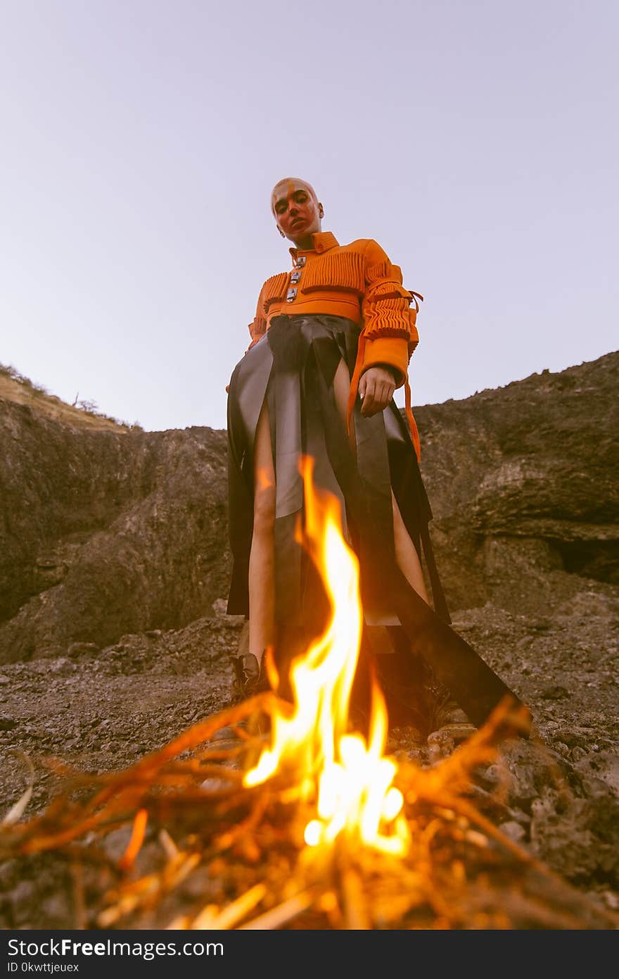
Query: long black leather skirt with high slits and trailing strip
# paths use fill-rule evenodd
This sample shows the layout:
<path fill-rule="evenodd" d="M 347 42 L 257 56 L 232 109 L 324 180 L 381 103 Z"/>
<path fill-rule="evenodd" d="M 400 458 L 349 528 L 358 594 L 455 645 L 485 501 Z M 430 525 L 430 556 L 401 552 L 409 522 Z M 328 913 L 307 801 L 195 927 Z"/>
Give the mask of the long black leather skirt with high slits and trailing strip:
<path fill-rule="evenodd" d="M 508 693 L 464 640 L 450 629 L 428 524 L 432 513 L 408 426 L 395 401 L 371 417 L 354 405 L 357 456 L 335 405 L 333 378 L 343 359 L 352 375 L 360 327 L 339 316 L 277 316 L 233 372 L 228 393 L 228 478 L 233 573 L 228 613 L 248 617 L 248 566 L 253 528 L 253 449 L 266 398 L 276 475 L 276 661 L 285 667 L 325 628 L 324 586 L 295 541 L 303 519 L 300 453 L 314 460 L 314 483 L 340 501 L 342 530 L 360 563 L 364 642 L 424 658 L 471 720 L 479 723 Z M 400 571 L 395 556 L 391 489 L 431 586 L 433 610 Z M 382 658 L 378 658 L 381 660 Z M 384 661 L 383 661 L 384 662 Z M 282 670 L 281 670 L 282 673 Z"/>

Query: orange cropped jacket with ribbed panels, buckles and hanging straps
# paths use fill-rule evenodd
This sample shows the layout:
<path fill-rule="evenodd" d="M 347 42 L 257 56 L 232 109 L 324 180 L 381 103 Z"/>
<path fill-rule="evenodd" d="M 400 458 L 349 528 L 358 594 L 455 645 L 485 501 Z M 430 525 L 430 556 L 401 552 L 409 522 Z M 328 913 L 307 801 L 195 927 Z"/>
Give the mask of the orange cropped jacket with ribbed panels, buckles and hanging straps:
<path fill-rule="evenodd" d="M 313 249 L 291 248 L 292 269 L 272 275 L 264 283 L 256 314 L 249 323 L 250 350 L 269 329 L 274 316 L 323 314 L 345 316 L 363 323 L 357 362 L 348 398 L 347 426 L 357 396 L 359 379 L 375 364 L 387 364 L 398 373 L 396 387 L 405 386 L 406 413 L 413 443 L 420 457 L 420 437 L 411 410 L 408 365 L 418 345 L 416 319 L 418 293 L 402 285 L 402 272 L 373 239 L 339 245 L 331 231 L 312 235 Z M 415 303 L 411 308 L 411 303 Z"/>

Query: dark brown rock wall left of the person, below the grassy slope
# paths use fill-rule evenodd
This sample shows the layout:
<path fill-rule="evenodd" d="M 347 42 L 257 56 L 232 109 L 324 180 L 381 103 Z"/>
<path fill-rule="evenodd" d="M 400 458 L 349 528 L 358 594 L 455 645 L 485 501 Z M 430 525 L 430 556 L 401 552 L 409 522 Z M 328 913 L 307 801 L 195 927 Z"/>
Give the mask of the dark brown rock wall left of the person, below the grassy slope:
<path fill-rule="evenodd" d="M 226 439 L 0 401 L 0 662 L 175 628 L 226 592 Z"/>

